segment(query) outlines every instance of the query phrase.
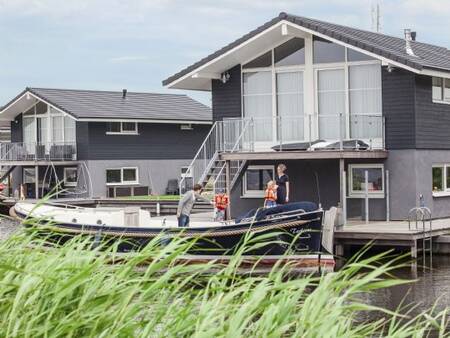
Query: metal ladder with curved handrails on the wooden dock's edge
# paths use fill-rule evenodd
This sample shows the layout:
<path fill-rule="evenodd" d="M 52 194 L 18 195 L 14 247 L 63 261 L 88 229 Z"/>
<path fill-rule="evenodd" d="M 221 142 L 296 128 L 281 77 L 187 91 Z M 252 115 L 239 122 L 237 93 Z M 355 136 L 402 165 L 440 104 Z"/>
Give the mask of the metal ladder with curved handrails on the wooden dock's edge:
<path fill-rule="evenodd" d="M 408 229 L 415 226 L 415 230 L 422 229 L 422 259 L 423 267 L 426 267 L 426 257 L 427 253 L 429 255 L 429 266 L 433 263 L 433 224 L 431 217 L 431 210 L 427 207 L 415 207 L 412 208 L 408 213 Z M 419 239 L 420 240 L 420 239 Z M 415 255 L 413 252 L 413 257 L 417 258 L 417 239 L 415 240 Z"/>

